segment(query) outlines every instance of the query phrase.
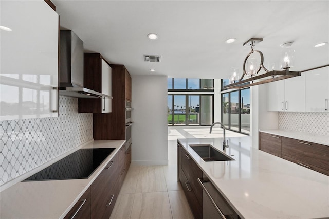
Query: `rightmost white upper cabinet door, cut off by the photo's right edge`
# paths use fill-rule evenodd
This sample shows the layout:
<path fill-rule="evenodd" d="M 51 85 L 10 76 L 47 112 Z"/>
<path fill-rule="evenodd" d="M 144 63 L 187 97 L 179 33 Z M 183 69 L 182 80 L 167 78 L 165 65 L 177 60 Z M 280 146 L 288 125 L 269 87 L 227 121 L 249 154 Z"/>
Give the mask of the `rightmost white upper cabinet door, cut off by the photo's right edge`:
<path fill-rule="evenodd" d="M 329 68 L 305 72 L 306 112 L 329 112 Z"/>

